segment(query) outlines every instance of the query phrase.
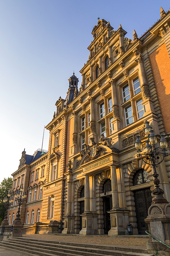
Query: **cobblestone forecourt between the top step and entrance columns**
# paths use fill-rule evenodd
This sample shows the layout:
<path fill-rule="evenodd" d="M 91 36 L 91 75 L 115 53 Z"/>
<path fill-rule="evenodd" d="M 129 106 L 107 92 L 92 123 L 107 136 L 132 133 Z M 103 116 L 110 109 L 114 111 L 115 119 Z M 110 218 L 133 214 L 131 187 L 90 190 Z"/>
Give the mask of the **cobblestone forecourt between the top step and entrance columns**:
<path fill-rule="evenodd" d="M 78 243 L 90 243 L 90 244 L 111 244 L 111 245 L 122 245 L 122 246 L 137 246 L 146 247 L 148 238 L 123 238 L 123 237 L 85 237 L 85 236 L 59 236 L 59 235 L 40 235 L 30 234 L 22 235 L 24 238 L 33 238 L 41 240 L 55 240 L 64 242 L 78 242 Z M 0 255 L 1 256 L 1 255 Z"/>

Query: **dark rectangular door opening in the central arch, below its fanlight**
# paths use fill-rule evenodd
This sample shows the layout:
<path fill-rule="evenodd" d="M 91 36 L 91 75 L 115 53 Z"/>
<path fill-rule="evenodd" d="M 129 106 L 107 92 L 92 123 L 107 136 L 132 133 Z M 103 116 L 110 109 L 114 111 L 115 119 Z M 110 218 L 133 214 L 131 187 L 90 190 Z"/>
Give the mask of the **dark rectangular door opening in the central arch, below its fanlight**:
<path fill-rule="evenodd" d="M 111 222 L 110 222 L 110 211 L 112 208 L 112 198 L 103 197 L 103 217 L 104 217 L 104 234 L 108 234 L 108 231 L 111 229 Z"/>

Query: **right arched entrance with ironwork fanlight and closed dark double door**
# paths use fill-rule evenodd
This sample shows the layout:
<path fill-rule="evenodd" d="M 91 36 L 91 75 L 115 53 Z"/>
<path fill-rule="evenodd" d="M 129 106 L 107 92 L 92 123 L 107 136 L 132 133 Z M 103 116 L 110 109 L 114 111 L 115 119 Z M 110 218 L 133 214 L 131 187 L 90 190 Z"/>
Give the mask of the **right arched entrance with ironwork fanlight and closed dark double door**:
<path fill-rule="evenodd" d="M 133 186 L 135 188 L 139 187 L 139 189 L 134 190 L 135 211 L 139 234 L 146 234 L 145 230 L 148 230 L 148 224 L 145 222 L 145 219 L 147 218 L 148 209 L 152 203 L 152 192 L 149 187 L 149 182 L 149 175 L 144 169 L 139 169 L 133 177 Z M 145 188 L 142 188 L 141 184 L 145 184 Z"/>

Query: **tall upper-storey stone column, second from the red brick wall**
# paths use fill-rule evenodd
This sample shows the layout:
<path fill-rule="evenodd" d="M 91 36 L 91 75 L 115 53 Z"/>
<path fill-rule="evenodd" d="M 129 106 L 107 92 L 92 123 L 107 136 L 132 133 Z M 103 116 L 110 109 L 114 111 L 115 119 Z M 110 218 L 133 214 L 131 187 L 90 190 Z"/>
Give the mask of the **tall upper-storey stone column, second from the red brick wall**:
<path fill-rule="evenodd" d="M 113 131 L 119 131 L 121 129 L 120 126 L 120 118 L 119 118 L 119 107 L 117 102 L 117 92 L 116 92 L 116 81 L 114 79 L 109 82 L 111 86 L 111 94 L 112 94 L 112 108 L 113 108 Z"/>

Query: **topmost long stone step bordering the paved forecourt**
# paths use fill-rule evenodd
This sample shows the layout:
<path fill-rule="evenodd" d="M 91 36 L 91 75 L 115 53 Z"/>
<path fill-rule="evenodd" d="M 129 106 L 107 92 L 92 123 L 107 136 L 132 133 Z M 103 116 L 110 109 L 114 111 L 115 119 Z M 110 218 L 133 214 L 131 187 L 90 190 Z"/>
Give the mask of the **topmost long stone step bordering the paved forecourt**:
<path fill-rule="evenodd" d="M 107 244 L 84 244 L 84 243 L 75 243 L 75 242 L 65 242 L 65 241 L 55 241 L 55 240 L 40 240 L 40 239 L 33 239 L 33 238 L 12 238 L 12 240 L 17 240 L 17 241 L 32 241 L 34 243 L 42 243 L 42 244 L 53 244 L 55 246 L 55 244 L 58 245 L 68 245 L 71 247 L 88 247 L 88 248 L 98 248 L 98 249 L 108 249 L 108 250 L 118 250 L 118 251 L 127 251 L 127 252 L 137 252 L 137 253 L 145 253 L 147 254 L 147 249 L 143 248 L 143 247 L 137 247 L 137 248 L 129 248 L 126 246 L 114 246 L 114 245 L 107 245 Z M 43 242 L 42 242 L 43 241 Z M 148 254 L 147 254 L 148 255 Z"/>

